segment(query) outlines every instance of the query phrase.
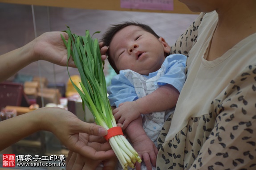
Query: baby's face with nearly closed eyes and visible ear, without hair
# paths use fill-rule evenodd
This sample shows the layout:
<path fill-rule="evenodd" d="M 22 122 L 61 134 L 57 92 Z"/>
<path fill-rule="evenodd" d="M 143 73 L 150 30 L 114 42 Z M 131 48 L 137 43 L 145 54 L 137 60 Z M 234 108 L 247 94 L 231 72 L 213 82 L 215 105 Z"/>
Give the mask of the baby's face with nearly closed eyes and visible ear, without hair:
<path fill-rule="evenodd" d="M 109 46 L 109 53 L 118 70 L 130 69 L 148 75 L 161 68 L 170 46 L 160 37 L 138 26 L 127 26 L 118 31 Z"/>

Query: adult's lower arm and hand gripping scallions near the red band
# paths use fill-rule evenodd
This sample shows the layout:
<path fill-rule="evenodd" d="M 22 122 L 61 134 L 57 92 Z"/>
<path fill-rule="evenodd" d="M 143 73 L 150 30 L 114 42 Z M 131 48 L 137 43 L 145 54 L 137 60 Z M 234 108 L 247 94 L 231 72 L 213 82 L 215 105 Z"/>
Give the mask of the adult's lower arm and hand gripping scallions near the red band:
<path fill-rule="evenodd" d="M 106 135 L 105 128 L 85 123 L 73 113 L 57 107 L 40 108 L 1 121 L 0 150 L 41 130 L 53 132 L 69 150 L 91 159 L 103 159 L 114 155 L 108 143 L 90 141 L 90 135 Z M 98 151 L 94 149 L 96 147 Z"/>

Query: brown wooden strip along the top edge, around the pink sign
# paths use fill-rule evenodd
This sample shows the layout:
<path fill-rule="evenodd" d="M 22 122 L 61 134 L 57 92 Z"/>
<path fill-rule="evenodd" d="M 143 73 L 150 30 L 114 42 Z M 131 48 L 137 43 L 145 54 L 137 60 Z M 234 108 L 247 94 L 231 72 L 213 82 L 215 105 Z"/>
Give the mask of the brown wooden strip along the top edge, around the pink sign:
<path fill-rule="evenodd" d="M 163 13 L 179 13 L 179 14 L 196 14 L 191 12 L 187 6 L 179 0 L 174 0 L 174 10 L 146 10 L 146 9 L 129 9 L 121 8 L 120 0 L 0 0 L 0 3 L 39 5 L 63 8 L 84 8 L 114 11 L 138 11 L 138 12 L 163 12 Z"/>

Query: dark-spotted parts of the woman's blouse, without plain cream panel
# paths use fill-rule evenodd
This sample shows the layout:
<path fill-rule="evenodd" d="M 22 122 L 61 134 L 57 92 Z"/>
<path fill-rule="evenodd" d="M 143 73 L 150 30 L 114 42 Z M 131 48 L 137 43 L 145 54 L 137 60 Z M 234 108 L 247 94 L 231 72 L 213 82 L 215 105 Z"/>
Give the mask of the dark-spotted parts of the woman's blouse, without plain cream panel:
<path fill-rule="evenodd" d="M 171 54 L 189 57 L 204 16 L 180 36 Z M 256 33 L 251 36 L 246 46 L 256 49 Z M 209 111 L 190 117 L 171 140 L 166 137 L 173 114 L 167 119 L 158 136 L 157 170 L 256 170 L 256 50 L 249 56 L 250 64 L 212 100 Z"/>

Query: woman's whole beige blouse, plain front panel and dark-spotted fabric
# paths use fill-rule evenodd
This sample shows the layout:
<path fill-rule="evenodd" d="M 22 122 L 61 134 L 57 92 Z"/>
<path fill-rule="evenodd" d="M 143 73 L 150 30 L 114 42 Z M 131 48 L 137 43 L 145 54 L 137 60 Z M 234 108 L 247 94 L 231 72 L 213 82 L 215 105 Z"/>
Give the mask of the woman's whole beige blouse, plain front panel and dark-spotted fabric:
<path fill-rule="evenodd" d="M 207 61 L 217 21 L 202 13 L 172 47 L 189 56 L 187 80 L 158 137 L 158 170 L 256 169 L 256 33 Z"/>

